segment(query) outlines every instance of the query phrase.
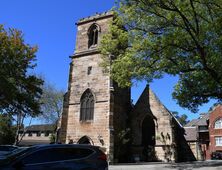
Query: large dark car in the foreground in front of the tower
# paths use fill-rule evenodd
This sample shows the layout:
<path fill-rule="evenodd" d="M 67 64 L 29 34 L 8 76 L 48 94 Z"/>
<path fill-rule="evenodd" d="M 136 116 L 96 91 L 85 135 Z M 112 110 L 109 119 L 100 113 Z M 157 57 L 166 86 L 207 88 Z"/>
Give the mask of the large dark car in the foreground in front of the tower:
<path fill-rule="evenodd" d="M 0 159 L 0 169 L 107 170 L 106 155 L 99 147 L 77 144 L 36 145 Z"/>

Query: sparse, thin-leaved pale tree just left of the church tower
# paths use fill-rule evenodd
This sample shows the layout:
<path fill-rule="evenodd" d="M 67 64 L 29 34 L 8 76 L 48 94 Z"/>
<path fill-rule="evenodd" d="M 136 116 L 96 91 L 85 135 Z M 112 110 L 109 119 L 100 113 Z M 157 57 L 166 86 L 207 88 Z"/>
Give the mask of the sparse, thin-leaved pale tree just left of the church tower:
<path fill-rule="evenodd" d="M 42 87 L 43 93 L 41 97 L 41 110 L 42 114 L 40 115 L 39 119 L 43 120 L 46 123 L 51 123 L 55 125 L 55 134 L 58 130 L 58 123 L 62 114 L 63 109 L 63 96 L 65 92 L 63 90 L 58 90 L 56 87 L 46 82 Z M 57 140 L 57 134 L 54 134 L 54 138 Z"/>

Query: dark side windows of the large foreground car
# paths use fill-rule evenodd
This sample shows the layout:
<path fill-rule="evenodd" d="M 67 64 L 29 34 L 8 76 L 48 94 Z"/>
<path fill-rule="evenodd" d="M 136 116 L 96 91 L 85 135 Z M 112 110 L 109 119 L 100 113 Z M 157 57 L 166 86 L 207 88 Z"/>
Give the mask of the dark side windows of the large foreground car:
<path fill-rule="evenodd" d="M 36 164 L 71 159 L 81 159 L 89 156 L 94 151 L 81 148 L 50 148 L 36 151 L 23 159 L 24 164 Z"/>

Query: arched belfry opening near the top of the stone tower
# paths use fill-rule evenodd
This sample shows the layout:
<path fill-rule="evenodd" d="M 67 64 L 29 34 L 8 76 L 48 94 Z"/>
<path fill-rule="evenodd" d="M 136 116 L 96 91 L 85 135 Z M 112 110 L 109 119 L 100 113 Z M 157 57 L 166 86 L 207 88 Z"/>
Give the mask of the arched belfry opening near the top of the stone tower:
<path fill-rule="evenodd" d="M 96 24 L 93 24 L 88 31 L 89 42 L 88 47 L 93 47 L 98 44 L 98 36 L 99 36 L 99 27 Z"/>

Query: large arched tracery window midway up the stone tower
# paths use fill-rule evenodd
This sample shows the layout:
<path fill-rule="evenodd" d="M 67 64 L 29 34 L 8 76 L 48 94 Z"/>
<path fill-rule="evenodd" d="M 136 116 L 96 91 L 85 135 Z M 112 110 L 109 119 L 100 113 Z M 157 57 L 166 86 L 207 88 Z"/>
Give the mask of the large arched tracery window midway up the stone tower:
<path fill-rule="evenodd" d="M 80 103 L 80 121 L 93 120 L 94 96 L 90 89 L 83 93 Z"/>

